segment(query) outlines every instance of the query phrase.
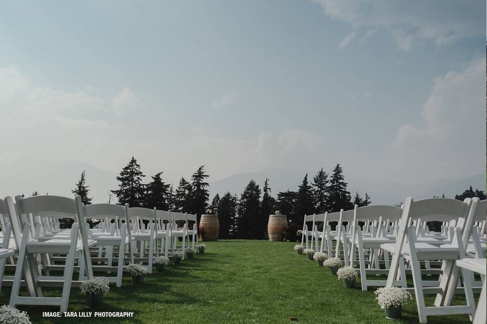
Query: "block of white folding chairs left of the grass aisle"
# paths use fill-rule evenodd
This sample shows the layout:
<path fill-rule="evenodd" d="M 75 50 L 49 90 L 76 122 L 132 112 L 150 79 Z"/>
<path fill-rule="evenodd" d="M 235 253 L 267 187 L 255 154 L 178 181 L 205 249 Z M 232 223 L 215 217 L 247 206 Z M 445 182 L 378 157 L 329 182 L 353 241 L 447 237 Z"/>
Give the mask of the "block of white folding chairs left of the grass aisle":
<path fill-rule="evenodd" d="M 61 219 L 72 219 L 71 228 L 60 228 Z M 97 225 L 90 228 L 88 220 Z M 0 199 L 0 226 L 0 289 L 12 286 L 10 306 L 56 305 L 61 312 L 71 288 L 93 272 L 114 273 L 107 278 L 121 287 L 129 263 L 146 264 L 152 272 L 154 257 L 198 243 L 196 215 L 128 204 L 85 206 L 80 196 L 16 196 L 15 201 L 7 196 Z M 15 270 L 14 276 L 4 275 L 6 269 Z M 57 271 L 63 275 L 53 275 Z M 21 287 L 28 296 L 21 296 Z M 61 296 L 44 297 L 43 287 L 62 287 Z"/>

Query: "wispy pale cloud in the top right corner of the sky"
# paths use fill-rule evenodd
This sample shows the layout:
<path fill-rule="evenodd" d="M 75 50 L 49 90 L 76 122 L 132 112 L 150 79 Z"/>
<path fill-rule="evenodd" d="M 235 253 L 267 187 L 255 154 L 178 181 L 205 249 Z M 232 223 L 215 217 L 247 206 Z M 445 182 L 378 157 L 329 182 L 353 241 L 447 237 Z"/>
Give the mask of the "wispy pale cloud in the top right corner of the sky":
<path fill-rule="evenodd" d="M 437 46 L 462 38 L 484 36 L 485 2 L 399 1 L 399 0 L 315 0 L 325 13 L 366 30 L 365 37 L 378 30 L 389 32 L 399 49 L 409 50 L 415 39 Z M 371 31 L 373 30 L 373 31 Z M 349 35 L 350 36 L 350 35 Z M 348 37 L 348 36 L 347 36 Z M 346 37 L 340 42 L 343 41 Z M 350 39 L 351 40 L 351 39 Z M 345 42 L 345 45 L 350 42 Z"/>

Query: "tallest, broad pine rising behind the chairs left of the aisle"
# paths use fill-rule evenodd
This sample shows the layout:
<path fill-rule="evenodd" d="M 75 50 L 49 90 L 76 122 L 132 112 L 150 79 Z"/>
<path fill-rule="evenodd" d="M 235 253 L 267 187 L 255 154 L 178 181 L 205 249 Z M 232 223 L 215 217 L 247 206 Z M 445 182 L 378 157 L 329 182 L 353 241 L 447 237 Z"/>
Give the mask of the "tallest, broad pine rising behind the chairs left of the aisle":
<path fill-rule="evenodd" d="M 119 189 L 112 190 L 120 205 L 128 204 L 130 207 L 141 207 L 143 205 L 144 185 L 142 178 L 144 177 L 141 166 L 132 156 L 129 163 L 120 172 L 120 176 L 117 177 L 117 180 L 120 181 Z"/>

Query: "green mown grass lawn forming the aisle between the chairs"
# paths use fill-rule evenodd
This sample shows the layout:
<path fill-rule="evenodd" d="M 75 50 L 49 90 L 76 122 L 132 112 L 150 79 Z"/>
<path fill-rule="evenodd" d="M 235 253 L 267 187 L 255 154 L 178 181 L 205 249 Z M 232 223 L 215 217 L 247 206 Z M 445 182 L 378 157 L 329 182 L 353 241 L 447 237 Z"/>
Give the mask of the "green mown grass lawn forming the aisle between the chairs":
<path fill-rule="evenodd" d="M 360 282 L 345 289 L 328 269 L 297 255 L 294 243 L 223 240 L 207 245 L 204 255 L 154 272 L 142 286 L 133 286 L 126 275 L 123 286 L 111 287 L 97 309 L 86 308 L 84 295 L 72 289 L 68 311 L 133 311 L 133 318 L 43 318 L 43 311 L 59 308 L 20 309 L 33 323 L 291 323 L 291 317 L 301 323 L 418 322 L 414 300 L 403 319 L 386 319 L 373 289 L 362 292 Z M 10 288 L 4 287 L 2 304 L 9 297 Z M 467 315 L 432 316 L 428 322 L 470 323 Z"/>

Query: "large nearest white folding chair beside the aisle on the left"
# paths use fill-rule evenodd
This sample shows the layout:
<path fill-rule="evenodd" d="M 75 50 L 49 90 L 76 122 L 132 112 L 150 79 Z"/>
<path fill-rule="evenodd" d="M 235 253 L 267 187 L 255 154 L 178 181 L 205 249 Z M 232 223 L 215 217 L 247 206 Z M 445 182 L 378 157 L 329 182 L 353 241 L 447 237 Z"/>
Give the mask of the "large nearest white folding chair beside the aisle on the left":
<path fill-rule="evenodd" d="M 23 198 L 15 197 L 18 214 L 15 211 L 12 197 L 6 197 L 10 223 L 12 224 L 13 235 L 18 244 L 18 259 L 10 296 L 10 306 L 16 305 L 58 305 L 60 311 L 66 311 L 69 302 L 72 276 L 76 256 L 81 253 L 88 278 L 93 278 L 91 259 L 89 255 L 90 245 L 94 241 L 88 240 L 86 227 L 81 226 L 78 231 L 78 224 L 83 224 L 81 197 L 75 199 L 58 196 L 32 196 Z M 32 240 L 30 235 L 30 224 L 23 223 L 21 230 L 20 222 L 25 220 L 29 213 L 37 212 L 70 213 L 78 215 L 78 224 L 73 224 L 71 239 L 51 239 L 46 241 Z M 80 235 L 80 236 L 79 236 Z M 81 239 L 78 240 L 78 237 Z M 63 276 L 42 276 L 38 272 L 36 259 L 37 253 L 66 254 Z M 25 262 L 25 259 L 27 259 Z M 22 276 L 25 279 L 29 297 L 19 295 Z M 41 287 L 62 286 L 61 297 L 43 297 Z"/>

